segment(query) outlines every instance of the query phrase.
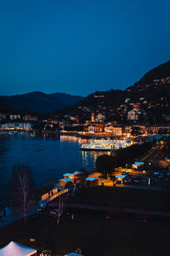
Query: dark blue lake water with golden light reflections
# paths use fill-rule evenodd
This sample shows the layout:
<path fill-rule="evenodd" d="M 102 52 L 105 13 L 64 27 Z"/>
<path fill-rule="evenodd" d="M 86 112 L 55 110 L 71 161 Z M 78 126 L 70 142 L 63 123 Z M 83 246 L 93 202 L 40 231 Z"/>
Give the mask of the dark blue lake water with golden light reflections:
<path fill-rule="evenodd" d="M 87 142 L 67 136 L 0 135 L 1 195 L 5 194 L 15 164 L 30 166 L 36 187 L 57 182 L 65 172 L 76 172 L 81 168 L 93 169 L 98 155 L 105 153 L 80 150 L 81 144 Z"/>

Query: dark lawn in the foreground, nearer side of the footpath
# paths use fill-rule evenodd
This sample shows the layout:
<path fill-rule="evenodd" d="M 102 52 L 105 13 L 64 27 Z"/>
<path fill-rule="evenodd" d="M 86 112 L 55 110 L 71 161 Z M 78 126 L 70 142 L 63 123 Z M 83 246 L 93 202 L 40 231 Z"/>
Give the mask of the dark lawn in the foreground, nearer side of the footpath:
<path fill-rule="evenodd" d="M 75 213 L 65 215 L 56 224 L 49 216 L 31 217 L 0 230 L 0 247 L 18 241 L 30 247 L 47 247 L 64 255 L 82 249 L 85 256 L 156 256 L 167 255 L 170 249 L 169 226 L 128 223 L 101 216 Z M 35 242 L 30 242 L 33 237 Z M 55 254 L 57 255 L 57 254 Z"/>

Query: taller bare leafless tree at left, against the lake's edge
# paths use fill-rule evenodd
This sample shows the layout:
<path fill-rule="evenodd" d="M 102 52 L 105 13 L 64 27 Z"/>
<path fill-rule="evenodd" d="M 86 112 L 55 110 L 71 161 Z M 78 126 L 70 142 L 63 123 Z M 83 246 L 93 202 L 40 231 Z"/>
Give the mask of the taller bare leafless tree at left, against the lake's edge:
<path fill-rule="evenodd" d="M 28 212 L 33 205 L 33 181 L 31 171 L 28 166 L 15 165 L 12 173 L 12 207 L 15 211 L 20 212 L 25 222 Z"/>

